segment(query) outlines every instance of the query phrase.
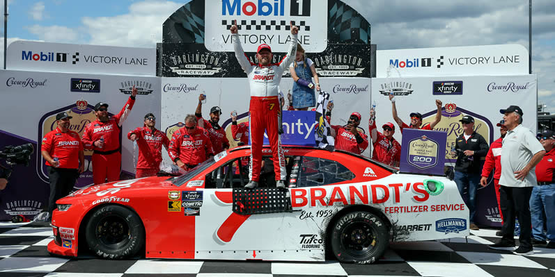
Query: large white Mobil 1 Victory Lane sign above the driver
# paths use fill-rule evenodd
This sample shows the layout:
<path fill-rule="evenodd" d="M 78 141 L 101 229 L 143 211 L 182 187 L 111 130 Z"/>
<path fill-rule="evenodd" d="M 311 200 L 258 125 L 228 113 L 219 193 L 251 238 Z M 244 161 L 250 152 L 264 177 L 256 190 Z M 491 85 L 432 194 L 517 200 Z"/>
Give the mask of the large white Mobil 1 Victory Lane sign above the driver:
<path fill-rule="evenodd" d="M 206 0 L 205 47 L 233 52 L 229 29 L 237 20 L 244 51 L 256 52 L 269 44 L 274 52 L 286 52 L 291 40 L 290 22 L 299 26 L 299 43 L 307 52 L 327 47 L 327 4 L 317 0 Z"/>

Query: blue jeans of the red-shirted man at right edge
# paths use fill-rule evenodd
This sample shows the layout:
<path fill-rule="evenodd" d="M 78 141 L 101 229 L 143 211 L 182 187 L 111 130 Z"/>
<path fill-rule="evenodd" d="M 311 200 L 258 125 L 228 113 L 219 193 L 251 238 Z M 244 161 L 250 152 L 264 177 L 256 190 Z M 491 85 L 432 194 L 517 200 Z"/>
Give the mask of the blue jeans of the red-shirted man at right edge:
<path fill-rule="evenodd" d="M 530 214 L 532 237 L 536 240 L 555 241 L 555 184 L 538 185 L 533 188 Z M 547 226 L 547 234 L 543 233 L 544 225 Z"/>

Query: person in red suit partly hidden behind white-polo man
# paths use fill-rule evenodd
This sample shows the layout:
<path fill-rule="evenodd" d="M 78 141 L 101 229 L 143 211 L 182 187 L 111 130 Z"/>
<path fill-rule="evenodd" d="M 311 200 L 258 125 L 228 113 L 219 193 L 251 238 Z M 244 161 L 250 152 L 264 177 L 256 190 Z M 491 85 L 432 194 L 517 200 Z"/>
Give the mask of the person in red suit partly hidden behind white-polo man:
<path fill-rule="evenodd" d="M 504 123 L 505 120 L 501 119 L 497 124 L 497 127 L 500 127 L 499 132 L 501 132 L 501 137 L 490 144 L 490 150 L 487 151 L 485 162 L 482 167 L 482 178 L 480 178 L 480 185 L 485 187 L 487 185 L 487 177 L 490 176 L 495 167 L 493 183 L 495 186 L 495 196 L 497 196 L 497 208 L 499 208 L 501 223 L 503 223 L 503 213 L 501 213 L 501 202 L 499 201 L 499 178 L 501 178 L 501 146 L 503 146 L 503 138 L 507 134 L 507 127 L 503 125 Z M 496 235 L 500 237 L 503 236 L 501 231 L 498 231 Z"/>

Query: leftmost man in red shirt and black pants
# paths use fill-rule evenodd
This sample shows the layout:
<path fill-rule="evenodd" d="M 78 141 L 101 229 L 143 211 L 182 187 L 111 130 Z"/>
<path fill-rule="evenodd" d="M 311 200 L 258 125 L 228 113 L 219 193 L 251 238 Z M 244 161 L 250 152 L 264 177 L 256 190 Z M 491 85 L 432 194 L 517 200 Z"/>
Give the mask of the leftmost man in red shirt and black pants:
<path fill-rule="evenodd" d="M 85 170 L 83 143 L 79 134 L 69 129 L 71 118 L 67 112 L 58 113 L 58 128 L 42 138 L 40 153 L 46 160 L 50 181 L 49 217 L 56 208 L 56 201 L 70 194 L 79 174 Z"/>

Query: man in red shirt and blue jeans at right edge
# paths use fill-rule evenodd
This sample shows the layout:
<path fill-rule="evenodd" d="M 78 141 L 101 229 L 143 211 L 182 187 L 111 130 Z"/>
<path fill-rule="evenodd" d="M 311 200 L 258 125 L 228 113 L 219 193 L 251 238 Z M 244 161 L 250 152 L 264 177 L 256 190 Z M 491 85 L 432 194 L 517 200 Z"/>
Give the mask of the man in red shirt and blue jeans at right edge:
<path fill-rule="evenodd" d="M 555 249 L 555 132 L 547 130 L 537 137 L 547 153 L 536 165 L 538 185 L 530 196 L 532 244 Z M 544 226 L 547 227 L 545 233 Z"/>

